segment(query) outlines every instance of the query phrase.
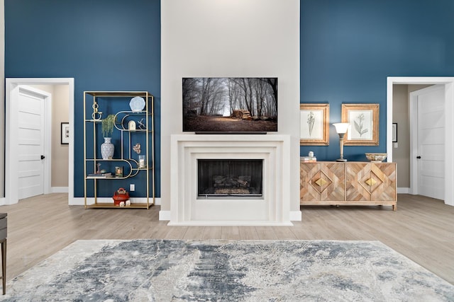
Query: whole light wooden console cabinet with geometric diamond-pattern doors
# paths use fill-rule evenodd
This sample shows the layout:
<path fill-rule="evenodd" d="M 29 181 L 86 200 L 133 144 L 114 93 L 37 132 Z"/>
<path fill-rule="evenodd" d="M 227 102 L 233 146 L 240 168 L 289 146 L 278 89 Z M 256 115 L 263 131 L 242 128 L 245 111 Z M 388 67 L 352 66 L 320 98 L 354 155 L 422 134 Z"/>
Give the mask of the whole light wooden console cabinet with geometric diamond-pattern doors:
<path fill-rule="evenodd" d="M 396 163 L 301 161 L 300 204 L 386 205 L 396 211 Z"/>

